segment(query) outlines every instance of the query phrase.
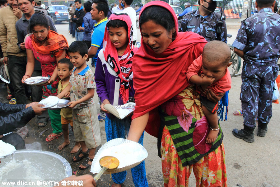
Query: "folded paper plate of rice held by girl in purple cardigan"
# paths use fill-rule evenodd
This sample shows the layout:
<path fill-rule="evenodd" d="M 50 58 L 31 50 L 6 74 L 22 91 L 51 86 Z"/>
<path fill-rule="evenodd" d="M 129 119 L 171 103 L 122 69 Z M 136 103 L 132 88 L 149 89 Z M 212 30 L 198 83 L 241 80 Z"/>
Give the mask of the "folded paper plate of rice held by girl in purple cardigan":
<path fill-rule="evenodd" d="M 124 119 L 129 116 L 135 110 L 135 103 L 125 103 L 123 105 L 113 106 L 111 104 L 105 104 L 104 108 L 119 119 Z"/>

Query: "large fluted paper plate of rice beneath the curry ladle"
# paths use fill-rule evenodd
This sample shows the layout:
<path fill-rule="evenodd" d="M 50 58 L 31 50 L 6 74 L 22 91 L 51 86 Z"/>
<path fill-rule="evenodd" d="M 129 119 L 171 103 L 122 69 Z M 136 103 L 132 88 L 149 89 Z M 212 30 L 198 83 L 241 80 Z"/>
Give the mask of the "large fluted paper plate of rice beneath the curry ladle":
<path fill-rule="evenodd" d="M 100 147 L 96 156 L 91 164 L 91 172 L 98 173 L 101 170 L 99 160 L 103 156 L 114 156 L 119 160 L 119 166 L 115 170 L 106 170 L 104 173 L 119 173 L 125 170 L 129 170 L 148 156 L 147 150 L 139 143 L 135 141 L 126 140 L 124 138 L 116 138 L 106 142 Z"/>

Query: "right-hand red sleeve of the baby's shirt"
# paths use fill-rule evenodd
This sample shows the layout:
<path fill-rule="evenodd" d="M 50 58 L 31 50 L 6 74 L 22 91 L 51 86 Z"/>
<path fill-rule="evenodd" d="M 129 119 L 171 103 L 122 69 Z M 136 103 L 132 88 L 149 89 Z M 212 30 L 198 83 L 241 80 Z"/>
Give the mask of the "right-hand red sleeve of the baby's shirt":
<path fill-rule="evenodd" d="M 217 81 L 212 86 L 212 91 L 214 93 L 225 93 L 226 91 L 231 89 L 231 74 L 228 69 L 226 69 L 226 74 Z"/>

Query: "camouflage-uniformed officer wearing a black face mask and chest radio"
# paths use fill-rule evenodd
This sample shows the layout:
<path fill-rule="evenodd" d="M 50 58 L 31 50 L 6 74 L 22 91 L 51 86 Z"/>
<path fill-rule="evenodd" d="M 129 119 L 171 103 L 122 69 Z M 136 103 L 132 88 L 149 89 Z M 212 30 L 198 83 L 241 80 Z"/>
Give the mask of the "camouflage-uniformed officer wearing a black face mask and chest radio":
<path fill-rule="evenodd" d="M 205 40 L 219 40 L 227 42 L 226 19 L 222 17 L 222 32 L 217 32 L 217 22 L 221 13 L 215 12 L 217 1 L 222 0 L 198 0 L 199 8 L 188 12 L 181 23 L 181 32 L 192 31 L 203 36 Z"/>

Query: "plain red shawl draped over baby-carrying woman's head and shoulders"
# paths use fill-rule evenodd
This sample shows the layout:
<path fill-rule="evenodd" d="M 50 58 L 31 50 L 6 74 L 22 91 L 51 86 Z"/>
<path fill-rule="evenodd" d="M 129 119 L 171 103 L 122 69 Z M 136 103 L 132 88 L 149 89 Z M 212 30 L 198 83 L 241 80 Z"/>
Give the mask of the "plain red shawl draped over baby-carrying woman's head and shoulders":
<path fill-rule="evenodd" d="M 189 85 L 186 72 L 192 61 L 202 54 L 203 47 L 207 43 L 202 36 L 196 33 L 178 32 L 177 16 L 166 2 L 148 2 L 142 8 L 139 20 L 142 12 L 150 6 L 164 7 L 172 14 L 176 36 L 175 40 L 161 54 L 156 54 L 141 39 L 141 47 L 133 56 L 133 85 L 136 107 L 132 119 L 152 111 Z M 155 123 L 158 123 L 159 120 L 154 119 L 154 116 L 153 112 L 150 112 L 145 131 L 157 136 L 156 130 L 158 127 Z"/>

